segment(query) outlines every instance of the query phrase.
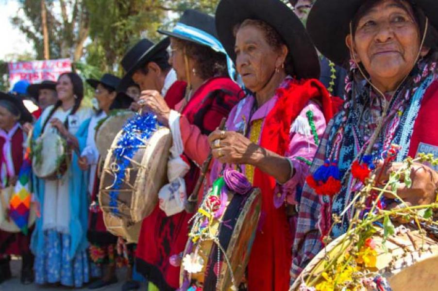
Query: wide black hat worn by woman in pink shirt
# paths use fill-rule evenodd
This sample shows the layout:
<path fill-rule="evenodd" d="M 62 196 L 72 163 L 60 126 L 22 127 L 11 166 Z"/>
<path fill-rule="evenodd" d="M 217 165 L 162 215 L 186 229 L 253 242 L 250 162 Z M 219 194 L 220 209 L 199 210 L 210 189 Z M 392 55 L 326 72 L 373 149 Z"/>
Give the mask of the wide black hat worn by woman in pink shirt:
<path fill-rule="evenodd" d="M 216 29 L 228 55 L 236 61 L 235 26 L 245 19 L 262 20 L 274 28 L 289 49 L 297 78 L 319 78 L 320 63 L 303 23 L 280 0 L 221 0 L 216 9 Z"/>

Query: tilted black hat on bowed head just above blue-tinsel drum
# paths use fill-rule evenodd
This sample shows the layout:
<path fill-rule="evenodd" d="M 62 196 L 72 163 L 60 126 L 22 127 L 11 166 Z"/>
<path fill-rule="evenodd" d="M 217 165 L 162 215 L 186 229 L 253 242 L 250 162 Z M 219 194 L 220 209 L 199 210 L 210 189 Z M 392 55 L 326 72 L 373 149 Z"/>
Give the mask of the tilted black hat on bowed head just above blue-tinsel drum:
<path fill-rule="evenodd" d="M 135 46 L 123 56 L 120 62 L 120 65 L 122 65 L 126 73 L 120 82 L 119 90 L 123 91 L 123 89 L 126 89 L 126 85 L 131 80 L 135 70 L 151 61 L 158 54 L 165 54 L 169 45 L 170 39 L 168 37 L 163 38 L 156 44 L 146 38 L 136 43 Z"/>

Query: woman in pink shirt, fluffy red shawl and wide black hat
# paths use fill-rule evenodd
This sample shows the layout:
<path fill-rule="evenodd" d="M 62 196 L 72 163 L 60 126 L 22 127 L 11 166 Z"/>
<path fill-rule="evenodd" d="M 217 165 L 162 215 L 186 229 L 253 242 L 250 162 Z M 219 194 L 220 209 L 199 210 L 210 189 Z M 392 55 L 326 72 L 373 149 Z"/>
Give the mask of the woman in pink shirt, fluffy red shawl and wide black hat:
<path fill-rule="evenodd" d="M 320 67 L 303 24 L 281 1 L 222 0 L 216 26 L 251 93 L 230 113 L 227 130 L 209 136 L 217 160 L 211 180 L 225 164 L 261 189 L 248 289 L 287 290 L 294 233 L 288 221 L 332 116 L 331 99 L 311 79 L 319 77 Z"/>

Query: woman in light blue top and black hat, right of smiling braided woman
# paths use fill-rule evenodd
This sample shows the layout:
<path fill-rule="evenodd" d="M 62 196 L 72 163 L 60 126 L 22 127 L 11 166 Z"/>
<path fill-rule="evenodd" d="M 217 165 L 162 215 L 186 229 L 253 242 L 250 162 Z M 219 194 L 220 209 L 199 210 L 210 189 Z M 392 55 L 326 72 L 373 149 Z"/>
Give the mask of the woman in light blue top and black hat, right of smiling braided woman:
<path fill-rule="evenodd" d="M 117 237 L 106 231 L 103 223 L 102 212 L 99 209 L 98 192 L 99 178 L 97 177 L 97 164 L 99 152 L 96 147 L 96 126 L 106 118 L 112 110 L 128 109 L 133 101 L 124 93 L 118 93 L 120 79 L 112 74 L 104 74 L 100 80 L 87 79 L 87 83 L 95 89 L 94 97 L 98 101 L 99 110 L 91 117 L 88 126 L 86 146 L 79 159 L 79 167 L 90 170 L 88 194 L 91 197 L 88 225 L 88 241 L 92 275 L 101 276 L 100 280 L 93 282 L 88 289 L 97 289 L 117 283 L 116 263 L 121 265 L 123 258 L 117 254 Z M 107 266 L 104 275 L 100 275 L 101 267 Z"/>

